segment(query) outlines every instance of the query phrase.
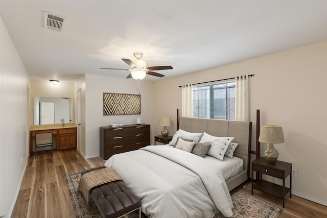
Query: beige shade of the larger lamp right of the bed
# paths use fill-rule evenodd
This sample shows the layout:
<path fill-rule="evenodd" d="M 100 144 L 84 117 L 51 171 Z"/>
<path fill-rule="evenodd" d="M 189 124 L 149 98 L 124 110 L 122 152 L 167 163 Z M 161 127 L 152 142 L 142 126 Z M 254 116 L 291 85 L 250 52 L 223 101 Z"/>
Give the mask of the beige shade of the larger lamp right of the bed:
<path fill-rule="evenodd" d="M 281 126 L 262 126 L 259 141 L 263 143 L 283 143 L 284 135 Z"/>

